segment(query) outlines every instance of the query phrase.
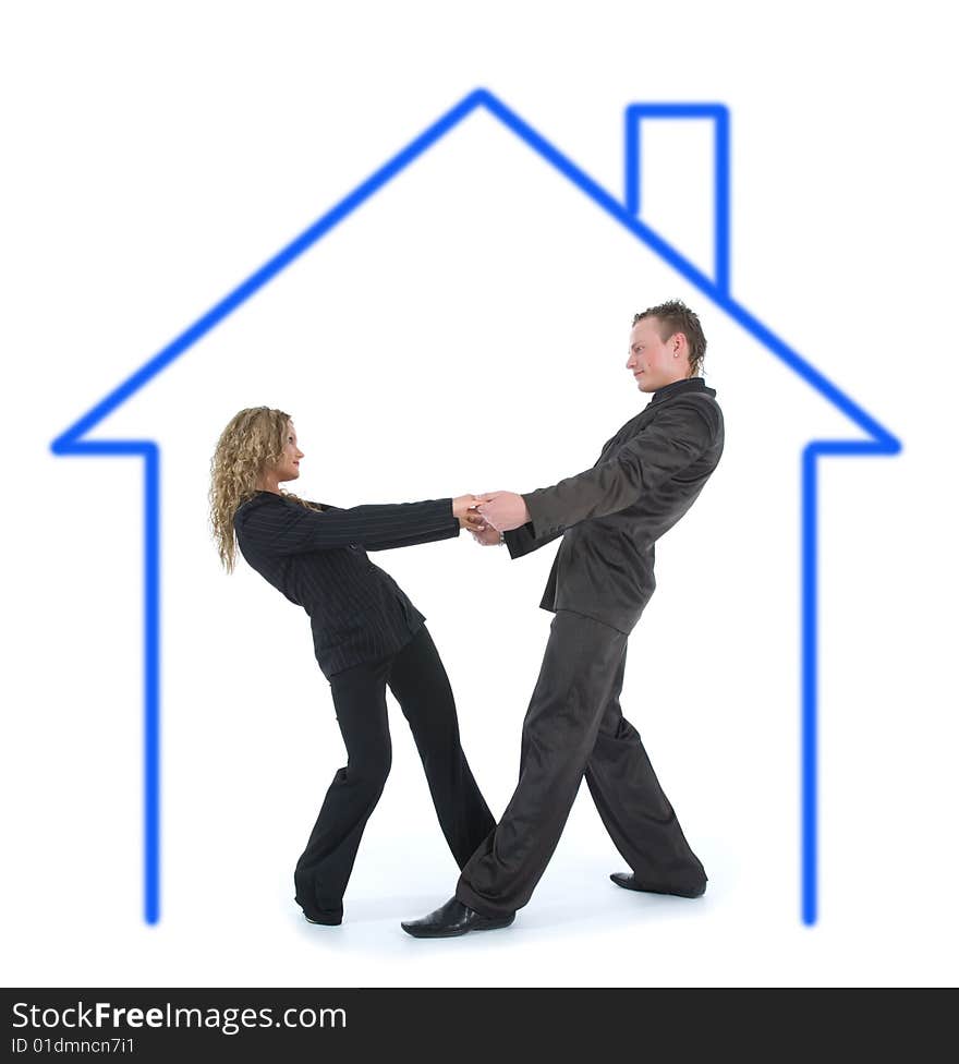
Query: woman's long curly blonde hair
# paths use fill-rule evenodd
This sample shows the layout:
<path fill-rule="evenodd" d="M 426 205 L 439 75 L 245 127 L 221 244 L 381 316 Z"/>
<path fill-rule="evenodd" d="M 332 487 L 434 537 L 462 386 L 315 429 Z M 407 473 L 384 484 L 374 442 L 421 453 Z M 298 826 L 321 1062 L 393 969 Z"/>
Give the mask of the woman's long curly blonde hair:
<path fill-rule="evenodd" d="M 282 410 L 248 407 L 230 419 L 217 440 L 210 459 L 210 528 L 227 572 L 236 564 L 233 515 L 256 494 L 264 471 L 283 457 L 290 421 Z M 283 497 L 307 506 L 290 492 L 283 492 Z"/>

